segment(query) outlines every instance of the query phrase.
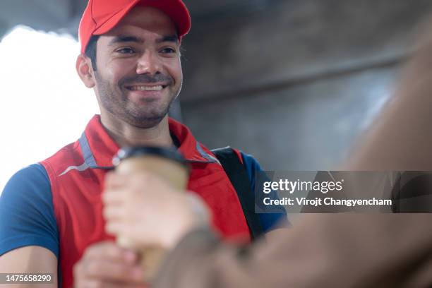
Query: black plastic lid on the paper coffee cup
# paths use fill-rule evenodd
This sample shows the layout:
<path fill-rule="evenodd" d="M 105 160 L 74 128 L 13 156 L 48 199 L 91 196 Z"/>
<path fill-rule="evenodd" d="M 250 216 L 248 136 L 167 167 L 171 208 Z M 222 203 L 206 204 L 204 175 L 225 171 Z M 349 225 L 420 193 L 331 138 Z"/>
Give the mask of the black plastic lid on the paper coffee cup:
<path fill-rule="evenodd" d="M 188 167 L 186 160 L 179 152 L 177 152 L 176 149 L 153 146 L 123 147 L 119 150 L 119 152 L 117 152 L 117 155 L 114 156 L 112 163 L 114 164 L 114 166 L 116 166 L 121 162 L 121 160 L 143 155 L 156 155 L 159 157 L 164 157 L 169 160 L 179 162 L 179 164 Z"/>

